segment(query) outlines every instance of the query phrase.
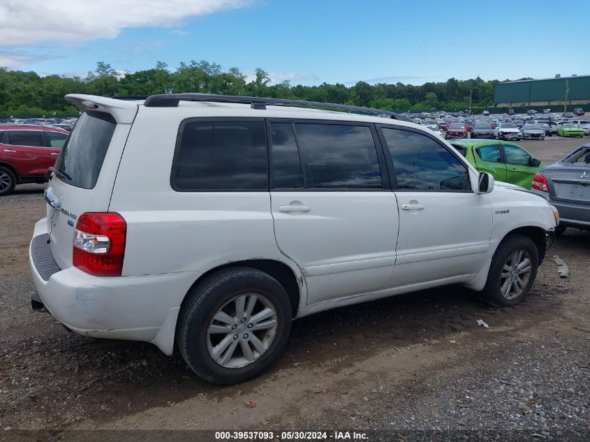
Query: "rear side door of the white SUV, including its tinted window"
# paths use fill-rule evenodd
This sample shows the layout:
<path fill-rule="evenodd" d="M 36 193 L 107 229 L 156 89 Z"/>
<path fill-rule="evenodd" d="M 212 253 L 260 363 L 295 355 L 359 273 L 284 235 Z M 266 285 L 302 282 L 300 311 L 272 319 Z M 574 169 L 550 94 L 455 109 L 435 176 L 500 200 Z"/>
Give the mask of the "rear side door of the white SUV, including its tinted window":
<path fill-rule="evenodd" d="M 302 267 L 308 304 L 387 286 L 397 201 L 374 126 L 268 122 L 276 243 Z"/>

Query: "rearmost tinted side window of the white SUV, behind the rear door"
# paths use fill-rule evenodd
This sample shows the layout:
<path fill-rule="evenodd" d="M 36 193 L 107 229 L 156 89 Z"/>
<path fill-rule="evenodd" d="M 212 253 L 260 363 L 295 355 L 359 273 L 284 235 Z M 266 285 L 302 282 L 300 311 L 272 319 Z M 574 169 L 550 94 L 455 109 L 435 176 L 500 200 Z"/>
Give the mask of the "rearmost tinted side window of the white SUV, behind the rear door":
<path fill-rule="evenodd" d="M 268 189 L 264 121 L 190 121 L 182 127 L 170 184 L 177 191 Z"/>

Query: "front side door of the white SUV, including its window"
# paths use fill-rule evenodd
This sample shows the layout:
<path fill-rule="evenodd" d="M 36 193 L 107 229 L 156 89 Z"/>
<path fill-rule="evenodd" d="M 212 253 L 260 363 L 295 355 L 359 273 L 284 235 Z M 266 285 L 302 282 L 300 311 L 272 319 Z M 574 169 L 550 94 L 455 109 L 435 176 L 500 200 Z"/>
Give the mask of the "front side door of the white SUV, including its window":
<path fill-rule="evenodd" d="M 391 286 L 466 282 L 485 264 L 492 232 L 487 194 L 471 189 L 467 166 L 436 138 L 381 125 L 399 205 Z"/>

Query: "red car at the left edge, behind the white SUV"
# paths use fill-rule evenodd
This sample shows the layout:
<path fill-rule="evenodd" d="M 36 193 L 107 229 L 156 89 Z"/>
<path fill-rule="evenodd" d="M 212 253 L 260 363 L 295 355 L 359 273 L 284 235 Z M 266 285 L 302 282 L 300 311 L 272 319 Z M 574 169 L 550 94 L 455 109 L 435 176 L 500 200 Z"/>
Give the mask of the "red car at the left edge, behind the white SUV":
<path fill-rule="evenodd" d="M 68 131 L 50 126 L 0 124 L 0 196 L 17 184 L 43 183 Z"/>

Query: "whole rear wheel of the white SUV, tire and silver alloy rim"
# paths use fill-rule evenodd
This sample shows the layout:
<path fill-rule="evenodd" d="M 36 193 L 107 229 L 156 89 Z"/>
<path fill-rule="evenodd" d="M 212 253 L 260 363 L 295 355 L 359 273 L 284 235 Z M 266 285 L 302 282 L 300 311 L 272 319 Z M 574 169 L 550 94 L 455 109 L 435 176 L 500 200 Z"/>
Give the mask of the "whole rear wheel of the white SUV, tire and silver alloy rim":
<path fill-rule="evenodd" d="M 198 376 L 225 385 L 244 382 L 279 358 L 292 308 L 269 274 L 251 267 L 221 270 L 188 296 L 179 314 L 177 346 Z"/>

